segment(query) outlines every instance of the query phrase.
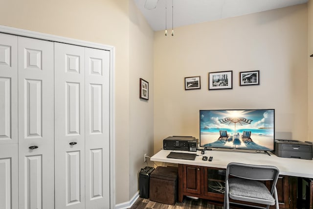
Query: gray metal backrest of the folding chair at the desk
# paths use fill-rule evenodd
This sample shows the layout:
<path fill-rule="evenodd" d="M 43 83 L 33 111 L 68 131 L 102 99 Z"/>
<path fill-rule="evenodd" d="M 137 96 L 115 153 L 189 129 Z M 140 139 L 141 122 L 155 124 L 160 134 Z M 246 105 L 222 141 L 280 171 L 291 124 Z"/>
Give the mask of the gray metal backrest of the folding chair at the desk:
<path fill-rule="evenodd" d="M 226 169 L 226 181 L 228 176 L 234 176 L 238 178 L 258 180 L 258 181 L 273 181 L 271 193 L 274 186 L 276 186 L 279 169 L 271 165 L 251 165 L 244 163 L 228 163 Z"/>

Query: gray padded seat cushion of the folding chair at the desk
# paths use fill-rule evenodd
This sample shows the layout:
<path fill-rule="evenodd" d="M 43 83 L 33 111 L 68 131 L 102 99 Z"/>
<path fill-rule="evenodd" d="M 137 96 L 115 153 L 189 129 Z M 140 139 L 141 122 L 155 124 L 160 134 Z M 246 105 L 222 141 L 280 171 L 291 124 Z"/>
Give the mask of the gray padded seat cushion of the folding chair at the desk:
<path fill-rule="evenodd" d="M 234 200 L 242 200 L 260 204 L 274 205 L 275 199 L 268 188 L 261 182 L 230 178 L 228 179 L 229 197 Z"/>

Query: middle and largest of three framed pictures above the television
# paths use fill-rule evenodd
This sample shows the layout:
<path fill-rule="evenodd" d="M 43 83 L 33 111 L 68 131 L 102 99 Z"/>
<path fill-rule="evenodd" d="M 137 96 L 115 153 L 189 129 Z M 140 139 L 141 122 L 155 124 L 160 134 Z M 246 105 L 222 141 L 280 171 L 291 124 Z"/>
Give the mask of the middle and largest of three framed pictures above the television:
<path fill-rule="evenodd" d="M 209 72 L 209 90 L 232 89 L 233 71 Z"/>

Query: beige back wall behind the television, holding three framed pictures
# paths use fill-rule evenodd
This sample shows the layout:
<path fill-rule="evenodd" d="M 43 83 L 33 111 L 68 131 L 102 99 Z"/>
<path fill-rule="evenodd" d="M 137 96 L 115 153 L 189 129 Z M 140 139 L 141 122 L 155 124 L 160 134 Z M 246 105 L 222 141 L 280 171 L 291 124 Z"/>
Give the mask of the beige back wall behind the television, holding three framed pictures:
<path fill-rule="evenodd" d="M 199 138 L 199 110 L 274 108 L 276 139 L 307 139 L 307 5 L 155 33 L 154 150 L 162 139 Z M 208 91 L 208 72 L 233 70 L 233 89 Z M 239 86 L 239 72 L 260 70 L 260 85 Z M 201 90 L 184 77 L 201 76 Z"/>

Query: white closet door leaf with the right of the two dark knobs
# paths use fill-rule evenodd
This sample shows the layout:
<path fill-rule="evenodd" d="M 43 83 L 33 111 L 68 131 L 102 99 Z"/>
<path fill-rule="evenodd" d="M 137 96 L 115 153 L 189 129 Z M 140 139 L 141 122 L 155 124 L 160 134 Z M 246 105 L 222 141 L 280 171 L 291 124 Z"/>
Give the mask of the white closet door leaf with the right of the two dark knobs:
<path fill-rule="evenodd" d="M 54 50 L 55 205 L 85 209 L 84 47 L 55 43 Z"/>

